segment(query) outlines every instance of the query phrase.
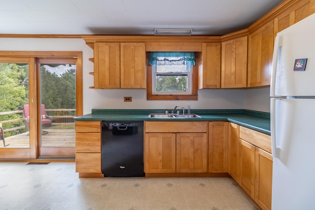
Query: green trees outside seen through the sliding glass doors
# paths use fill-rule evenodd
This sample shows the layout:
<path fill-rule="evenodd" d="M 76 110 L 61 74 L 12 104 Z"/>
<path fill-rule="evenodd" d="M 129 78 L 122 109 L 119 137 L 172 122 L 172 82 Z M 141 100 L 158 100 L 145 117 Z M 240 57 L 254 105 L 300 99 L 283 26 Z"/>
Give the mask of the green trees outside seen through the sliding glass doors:
<path fill-rule="evenodd" d="M 75 69 L 62 75 L 49 72 L 41 67 L 41 103 L 46 109 L 75 109 Z M 24 110 L 29 103 L 29 66 L 21 63 L 0 63 L 0 112 Z M 49 113 L 48 113 L 49 115 Z M 75 115 L 75 111 L 54 112 L 54 115 Z M 23 118 L 22 113 L 0 115 L 0 121 Z M 8 129 L 25 125 L 25 122 L 3 123 Z M 5 137 L 26 132 L 26 129 L 5 132 Z"/>

